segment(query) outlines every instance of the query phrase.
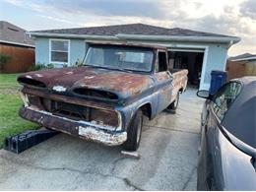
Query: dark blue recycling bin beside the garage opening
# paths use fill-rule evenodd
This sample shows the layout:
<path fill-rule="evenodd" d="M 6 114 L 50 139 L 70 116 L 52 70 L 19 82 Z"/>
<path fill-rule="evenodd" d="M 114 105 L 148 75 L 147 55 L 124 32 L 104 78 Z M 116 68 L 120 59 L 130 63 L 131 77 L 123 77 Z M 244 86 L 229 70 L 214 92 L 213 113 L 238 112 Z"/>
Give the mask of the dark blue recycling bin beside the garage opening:
<path fill-rule="evenodd" d="M 226 83 L 227 73 L 225 71 L 212 71 L 209 93 L 214 96 L 217 91 Z"/>

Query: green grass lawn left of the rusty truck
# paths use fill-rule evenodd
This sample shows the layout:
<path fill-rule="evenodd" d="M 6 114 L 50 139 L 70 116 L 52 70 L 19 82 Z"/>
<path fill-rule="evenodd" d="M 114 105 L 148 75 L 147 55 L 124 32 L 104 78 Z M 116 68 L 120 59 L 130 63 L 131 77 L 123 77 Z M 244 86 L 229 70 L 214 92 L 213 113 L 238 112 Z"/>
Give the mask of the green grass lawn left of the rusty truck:
<path fill-rule="evenodd" d="M 0 74 L 0 149 L 6 136 L 16 135 L 39 125 L 22 119 L 18 111 L 23 101 L 19 96 L 18 74 Z"/>

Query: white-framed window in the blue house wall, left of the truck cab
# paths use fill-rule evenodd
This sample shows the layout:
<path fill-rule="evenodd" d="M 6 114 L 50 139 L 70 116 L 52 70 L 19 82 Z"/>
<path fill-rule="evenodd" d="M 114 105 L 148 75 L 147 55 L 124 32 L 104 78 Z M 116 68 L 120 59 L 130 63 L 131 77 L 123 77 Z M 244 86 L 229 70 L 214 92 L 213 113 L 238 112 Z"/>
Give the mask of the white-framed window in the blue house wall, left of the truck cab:
<path fill-rule="evenodd" d="M 50 62 L 69 63 L 69 40 L 50 39 Z"/>

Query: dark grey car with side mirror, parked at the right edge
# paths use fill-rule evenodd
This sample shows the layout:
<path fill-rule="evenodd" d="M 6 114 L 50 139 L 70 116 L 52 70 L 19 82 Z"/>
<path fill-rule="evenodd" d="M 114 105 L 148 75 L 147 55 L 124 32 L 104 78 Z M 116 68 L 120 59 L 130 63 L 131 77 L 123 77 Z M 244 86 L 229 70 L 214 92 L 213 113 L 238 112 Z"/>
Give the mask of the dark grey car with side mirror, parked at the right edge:
<path fill-rule="evenodd" d="M 207 98 L 201 117 L 198 190 L 256 190 L 256 77 Z"/>

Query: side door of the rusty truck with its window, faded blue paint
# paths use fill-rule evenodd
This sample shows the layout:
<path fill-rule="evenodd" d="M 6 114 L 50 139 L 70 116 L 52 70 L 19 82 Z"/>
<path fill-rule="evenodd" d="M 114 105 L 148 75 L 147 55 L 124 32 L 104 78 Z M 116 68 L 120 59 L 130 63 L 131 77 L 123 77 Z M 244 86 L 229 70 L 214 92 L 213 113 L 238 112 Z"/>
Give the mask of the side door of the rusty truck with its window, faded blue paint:
<path fill-rule="evenodd" d="M 172 76 L 167 70 L 166 51 L 158 51 L 155 75 L 157 79 L 158 112 L 160 112 L 170 104 L 172 91 Z"/>

